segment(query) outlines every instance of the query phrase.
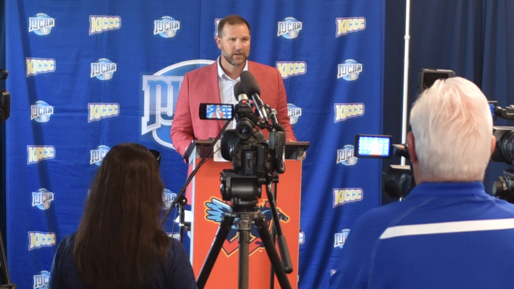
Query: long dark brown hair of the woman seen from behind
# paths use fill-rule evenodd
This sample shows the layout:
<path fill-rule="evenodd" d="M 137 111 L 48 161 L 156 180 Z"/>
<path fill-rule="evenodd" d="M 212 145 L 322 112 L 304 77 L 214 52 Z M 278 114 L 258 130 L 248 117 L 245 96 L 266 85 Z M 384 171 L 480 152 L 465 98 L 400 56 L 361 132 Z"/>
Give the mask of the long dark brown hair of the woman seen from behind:
<path fill-rule="evenodd" d="M 137 143 L 114 146 L 102 161 L 74 249 L 87 287 L 128 288 L 166 260 L 169 239 L 159 224 L 163 185 L 157 160 Z"/>

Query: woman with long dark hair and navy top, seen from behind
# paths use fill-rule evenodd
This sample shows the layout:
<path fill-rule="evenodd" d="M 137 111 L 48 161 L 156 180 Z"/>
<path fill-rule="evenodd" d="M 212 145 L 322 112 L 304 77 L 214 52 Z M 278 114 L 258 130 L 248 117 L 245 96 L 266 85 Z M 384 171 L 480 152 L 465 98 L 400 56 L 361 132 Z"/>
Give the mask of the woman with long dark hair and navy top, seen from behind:
<path fill-rule="evenodd" d="M 113 147 L 79 229 L 59 244 L 50 288 L 197 288 L 185 248 L 159 224 L 163 188 L 148 149 Z"/>

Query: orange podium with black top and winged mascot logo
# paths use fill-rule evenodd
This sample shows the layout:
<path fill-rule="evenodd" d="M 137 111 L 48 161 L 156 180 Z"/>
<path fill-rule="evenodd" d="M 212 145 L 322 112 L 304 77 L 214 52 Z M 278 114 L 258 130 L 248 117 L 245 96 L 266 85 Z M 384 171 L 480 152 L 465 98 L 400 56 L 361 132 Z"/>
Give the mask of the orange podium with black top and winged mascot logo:
<path fill-rule="evenodd" d="M 198 166 L 211 143 L 211 140 L 193 140 L 185 154 L 185 159 L 188 160 L 189 164 L 189 173 Z M 286 142 L 286 170 L 283 174 L 279 174 L 276 190 L 280 225 L 287 241 L 293 266 L 293 272 L 287 275 L 293 289 L 298 288 L 302 156 L 308 146 L 309 142 L 306 141 Z M 190 259 L 196 277 L 198 277 L 201 266 L 204 264 L 214 241 L 223 213 L 230 209 L 230 202 L 223 201 L 219 191 L 221 185 L 219 177 L 224 169 L 232 169 L 232 162 L 214 161 L 214 158 L 209 158 L 198 170 L 186 191 L 186 197 L 190 200 L 192 212 Z M 266 188 L 263 186 L 258 207 L 266 216 L 268 229 L 271 231 L 271 211 L 267 198 Z M 248 257 L 248 288 L 268 289 L 272 286 L 270 283 L 271 263 L 264 244 L 258 236 L 255 226 L 252 225 Z M 236 289 L 238 287 L 239 243 L 237 237 L 238 232 L 234 223 L 212 267 L 205 285 L 206 289 Z M 278 245 L 276 245 L 276 248 L 279 252 Z M 280 288 L 276 277 L 274 277 L 273 288 Z"/>

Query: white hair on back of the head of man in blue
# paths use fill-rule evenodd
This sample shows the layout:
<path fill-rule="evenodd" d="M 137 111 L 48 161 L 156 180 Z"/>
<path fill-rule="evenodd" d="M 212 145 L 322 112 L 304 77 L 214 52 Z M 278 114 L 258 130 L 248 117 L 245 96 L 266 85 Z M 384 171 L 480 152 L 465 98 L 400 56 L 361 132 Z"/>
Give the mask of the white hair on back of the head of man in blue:
<path fill-rule="evenodd" d="M 426 178 L 456 182 L 484 178 L 492 116 L 474 83 L 461 77 L 435 81 L 414 103 L 410 124 Z"/>

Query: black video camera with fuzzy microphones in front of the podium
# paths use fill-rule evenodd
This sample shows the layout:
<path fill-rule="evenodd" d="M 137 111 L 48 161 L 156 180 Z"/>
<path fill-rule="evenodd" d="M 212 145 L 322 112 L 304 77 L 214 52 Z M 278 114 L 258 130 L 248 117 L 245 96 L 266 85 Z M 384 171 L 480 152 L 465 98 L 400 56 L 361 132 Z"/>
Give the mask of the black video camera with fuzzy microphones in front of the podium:
<path fill-rule="evenodd" d="M 232 161 L 232 170 L 221 173 L 221 195 L 224 201 L 256 201 L 261 197 L 262 185 L 270 184 L 275 172 L 285 171 L 285 129 L 278 122 L 276 110 L 260 99 L 259 85 L 249 71 L 243 71 L 241 81 L 234 85 L 234 96 L 238 103 L 233 110 L 226 104 L 201 104 L 200 118 L 230 120 L 228 116 L 209 117 L 210 111 L 222 112 L 223 106 L 227 112 L 224 115 L 235 118 L 235 129 L 226 130 L 221 137 L 222 157 Z M 269 140 L 259 129 L 269 131 Z"/>

